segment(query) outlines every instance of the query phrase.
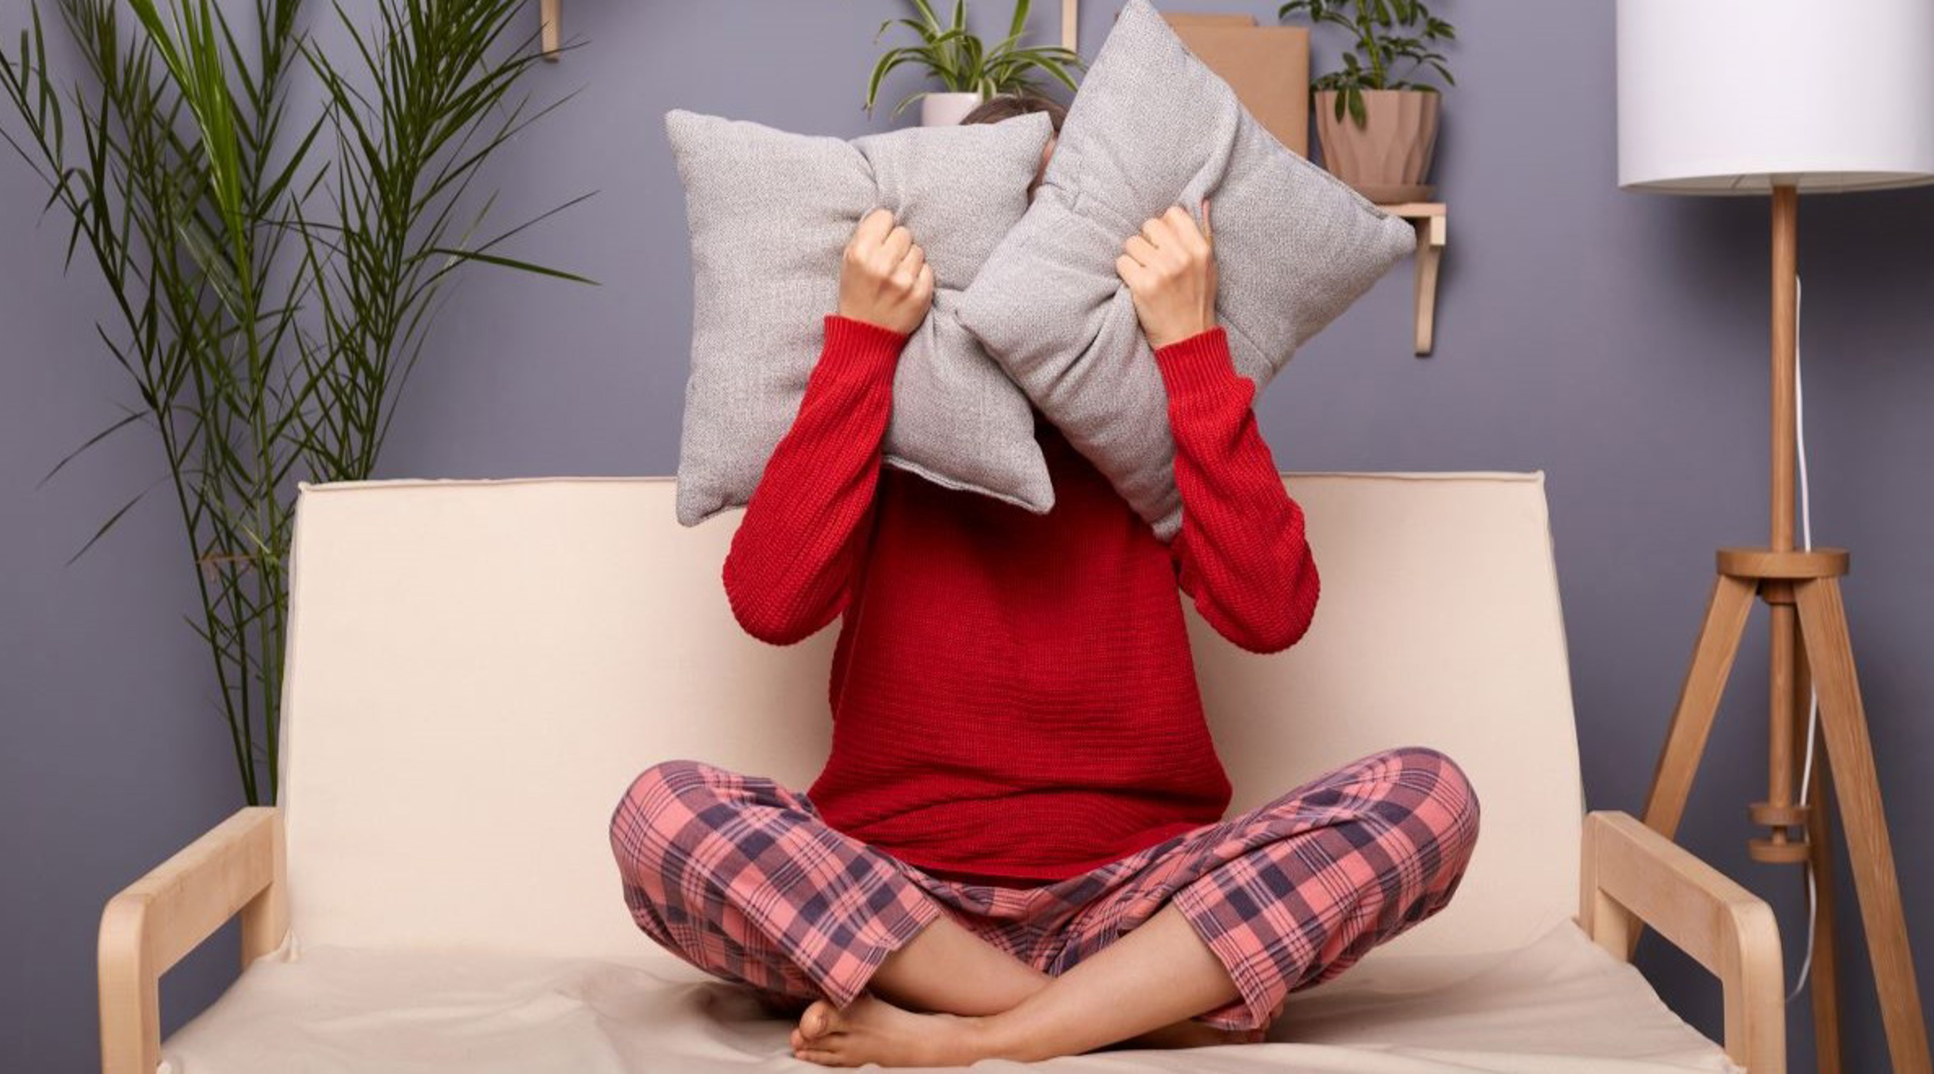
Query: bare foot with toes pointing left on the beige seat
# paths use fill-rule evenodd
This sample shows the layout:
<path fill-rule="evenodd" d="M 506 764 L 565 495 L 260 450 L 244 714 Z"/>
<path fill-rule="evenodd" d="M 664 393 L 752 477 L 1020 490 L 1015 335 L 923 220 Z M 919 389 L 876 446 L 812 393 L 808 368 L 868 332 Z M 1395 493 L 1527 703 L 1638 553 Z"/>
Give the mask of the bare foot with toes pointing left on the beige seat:
<path fill-rule="evenodd" d="M 915 1014 L 872 993 L 845 1010 L 818 1000 L 793 1028 L 793 1057 L 820 1066 L 969 1066 L 990 1055 L 981 1018 Z"/>

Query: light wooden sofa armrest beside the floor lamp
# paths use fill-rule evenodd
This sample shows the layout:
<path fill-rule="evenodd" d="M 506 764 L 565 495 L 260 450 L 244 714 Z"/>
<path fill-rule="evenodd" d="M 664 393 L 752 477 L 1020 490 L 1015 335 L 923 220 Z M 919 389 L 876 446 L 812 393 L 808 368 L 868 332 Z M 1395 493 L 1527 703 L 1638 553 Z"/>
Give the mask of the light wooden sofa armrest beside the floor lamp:
<path fill-rule="evenodd" d="M 1779 923 L 1766 902 L 1630 813 L 1584 817 L 1578 927 L 1630 958 L 1642 921 L 1719 977 L 1725 1053 L 1752 1074 L 1785 1074 Z"/>

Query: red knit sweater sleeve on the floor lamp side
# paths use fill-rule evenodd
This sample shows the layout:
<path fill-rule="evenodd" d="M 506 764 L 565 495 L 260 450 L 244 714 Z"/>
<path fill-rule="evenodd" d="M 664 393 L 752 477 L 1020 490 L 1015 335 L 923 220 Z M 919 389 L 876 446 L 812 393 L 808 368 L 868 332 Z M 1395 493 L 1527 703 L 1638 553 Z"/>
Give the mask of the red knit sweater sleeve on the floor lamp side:
<path fill-rule="evenodd" d="M 1228 641 L 1278 652 L 1309 629 L 1321 588 L 1304 511 L 1255 426 L 1255 383 L 1216 325 L 1155 352 L 1176 439 L 1176 581 Z"/>

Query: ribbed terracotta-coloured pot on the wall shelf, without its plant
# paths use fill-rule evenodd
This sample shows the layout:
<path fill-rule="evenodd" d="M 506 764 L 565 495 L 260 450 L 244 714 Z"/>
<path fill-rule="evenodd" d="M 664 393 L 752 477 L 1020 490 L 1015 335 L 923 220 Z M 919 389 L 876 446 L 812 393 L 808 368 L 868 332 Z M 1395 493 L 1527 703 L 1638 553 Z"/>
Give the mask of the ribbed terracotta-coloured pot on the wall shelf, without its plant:
<path fill-rule="evenodd" d="M 1323 166 L 1358 194 L 1379 203 L 1423 201 L 1423 178 L 1437 149 L 1439 93 L 1423 89 L 1365 89 L 1369 122 L 1356 126 L 1346 110 L 1336 118 L 1336 91 L 1317 93 L 1317 143 Z"/>

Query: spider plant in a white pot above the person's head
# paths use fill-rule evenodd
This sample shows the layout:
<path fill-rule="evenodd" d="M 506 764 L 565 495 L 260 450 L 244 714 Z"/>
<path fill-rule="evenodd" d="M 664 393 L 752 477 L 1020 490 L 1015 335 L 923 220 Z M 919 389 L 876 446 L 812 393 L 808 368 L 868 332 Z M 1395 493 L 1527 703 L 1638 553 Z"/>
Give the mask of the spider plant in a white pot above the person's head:
<path fill-rule="evenodd" d="M 1029 0 L 1015 0 L 1013 15 L 1008 19 L 1008 37 L 992 48 L 967 29 L 967 0 L 953 0 L 950 23 L 940 21 L 930 0 L 909 2 L 919 17 L 886 19 L 872 39 L 878 45 L 880 35 L 899 23 L 917 33 L 921 43 L 888 48 L 872 66 L 872 77 L 866 81 L 866 112 L 872 112 L 886 75 L 903 64 L 923 64 L 926 74 L 946 87 L 917 89 L 894 106 L 897 116 L 919 99 L 923 126 L 957 124 L 961 116 L 996 93 L 1039 89 L 1033 79 L 1035 72 L 1046 72 L 1068 89 L 1075 89 L 1075 79 L 1068 72 L 1083 66 L 1079 52 L 1060 45 L 1021 46 Z"/>

